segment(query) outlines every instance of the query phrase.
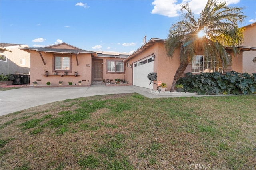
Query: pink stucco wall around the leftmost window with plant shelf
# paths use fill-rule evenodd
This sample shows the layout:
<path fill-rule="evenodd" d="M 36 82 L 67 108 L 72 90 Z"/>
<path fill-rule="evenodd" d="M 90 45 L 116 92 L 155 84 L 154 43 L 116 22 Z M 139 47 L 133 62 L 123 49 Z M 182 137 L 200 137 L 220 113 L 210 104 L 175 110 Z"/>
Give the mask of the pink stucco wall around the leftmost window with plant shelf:
<path fill-rule="evenodd" d="M 59 81 L 63 81 L 63 85 L 68 85 L 68 82 L 72 82 L 73 85 L 78 81 L 82 81 L 82 84 L 91 84 L 91 67 L 92 59 L 90 54 L 78 54 L 78 65 L 76 62 L 76 55 L 70 55 L 72 59 L 72 68 L 68 71 L 68 75 L 64 75 L 64 71 L 58 71 L 58 75 L 54 75 L 54 56 L 62 56 L 53 53 L 42 53 L 42 57 L 45 61 L 45 65 L 36 51 L 31 51 L 31 75 L 30 85 L 33 81 L 37 81 L 38 85 L 46 85 L 49 81 L 51 85 L 58 85 Z M 66 56 L 66 55 L 65 55 Z M 44 70 L 49 72 L 48 76 L 44 75 Z M 74 72 L 78 71 L 78 76 L 74 76 Z M 62 76 L 61 76 L 62 75 Z M 41 80 L 41 81 L 39 81 Z"/>

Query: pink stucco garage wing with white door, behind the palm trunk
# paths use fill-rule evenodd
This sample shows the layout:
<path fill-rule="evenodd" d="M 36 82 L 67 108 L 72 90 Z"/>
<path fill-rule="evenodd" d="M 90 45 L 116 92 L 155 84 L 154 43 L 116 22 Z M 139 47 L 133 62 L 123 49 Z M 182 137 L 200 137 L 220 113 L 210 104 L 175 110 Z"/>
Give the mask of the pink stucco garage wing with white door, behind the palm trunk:
<path fill-rule="evenodd" d="M 162 81 L 162 83 L 167 84 L 167 88 L 170 89 L 174 75 L 180 65 L 180 49 L 176 50 L 174 57 L 169 58 L 166 55 L 165 40 L 152 38 L 139 49 L 134 51 L 129 57 L 123 60 L 126 62 L 127 68 L 129 65 L 130 69 L 126 69 L 127 79 L 132 80 L 131 83 L 136 86 L 146 87 L 149 89 L 156 89 L 157 82 Z M 243 52 L 244 51 L 256 51 L 255 47 L 239 47 L 240 54 L 234 56 L 231 50 L 226 47 L 226 50 L 230 55 L 232 55 L 232 65 L 228 66 L 226 69 L 221 67 L 214 68 L 211 63 L 204 61 L 204 56 L 202 52 L 194 57 L 192 63 L 188 65 L 185 73 L 192 72 L 199 74 L 201 72 L 213 72 L 218 71 L 220 73 L 225 73 L 229 71 L 237 71 L 242 73 L 243 71 Z M 149 73 L 156 73 L 156 80 L 150 83 L 148 79 Z"/>

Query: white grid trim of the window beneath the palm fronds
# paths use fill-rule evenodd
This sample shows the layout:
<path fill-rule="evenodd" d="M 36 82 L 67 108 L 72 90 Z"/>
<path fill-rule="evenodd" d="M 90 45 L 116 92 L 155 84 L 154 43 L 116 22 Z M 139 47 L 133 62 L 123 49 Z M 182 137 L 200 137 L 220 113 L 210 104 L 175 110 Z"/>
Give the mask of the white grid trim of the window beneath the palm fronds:
<path fill-rule="evenodd" d="M 203 60 L 195 60 L 196 56 L 202 56 Z M 195 63 L 193 66 L 193 62 Z M 196 62 L 202 62 L 202 66 L 196 66 Z M 191 72 L 192 73 L 213 73 L 213 72 L 218 72 L 218 73 L 223 73 L 223 67 L 212 67 L 211 63 L 212 61 L 208 61 L 210 62 L 210 66 L 208 65 L 204 65 L 206 63 L 205 59 L 204 59 L 204 55 L 194 55 L 192 61 L 191 61 Z M 194 68 L 193 68 L 194 67 Z M 196 67 L 198 67 L 198 72 L 195 72 Z M 200 68 L 202 68 L 202 71 L 200 71 Z M 206 69 L 210 69 L 210 71 L 205 71 Z M 218 69 L 222 69 L 221 72 L 218 71 Z"/>

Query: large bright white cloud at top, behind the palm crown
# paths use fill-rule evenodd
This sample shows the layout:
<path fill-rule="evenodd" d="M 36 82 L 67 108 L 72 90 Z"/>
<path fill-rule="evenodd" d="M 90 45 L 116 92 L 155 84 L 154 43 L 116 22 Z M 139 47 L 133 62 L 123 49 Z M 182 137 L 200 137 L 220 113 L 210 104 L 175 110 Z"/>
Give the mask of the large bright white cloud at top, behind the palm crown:
<path fill-rule="evenodd" d="M 226 3 L 237 4 L 240 0 L 227 0 Z M 207 0 L 182 0 L 181 3 L 177 3 L 177 0 L 154 0 L 152 5 L 154 9 L 151 14 L 160 14 L 168 17 L 179 16 L 181 4 L 188 3 L 194 14 L 200 14 L 206 5 Z"/>

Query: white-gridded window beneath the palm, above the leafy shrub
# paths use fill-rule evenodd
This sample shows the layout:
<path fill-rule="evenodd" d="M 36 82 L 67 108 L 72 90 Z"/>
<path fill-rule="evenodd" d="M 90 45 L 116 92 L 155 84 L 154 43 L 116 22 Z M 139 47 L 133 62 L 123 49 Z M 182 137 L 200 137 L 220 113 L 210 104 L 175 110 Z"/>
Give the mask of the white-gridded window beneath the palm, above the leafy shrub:
<path fill-rule="evenodd" d="M 195 55 L 192 60 L 192 73 L 212 73 L 212 72 L 219 72 L 223 73 L 222 67 L 213 67 L 212 62 L 215 61 L 208 61 L 204 60 L 203 55 Z"/>

